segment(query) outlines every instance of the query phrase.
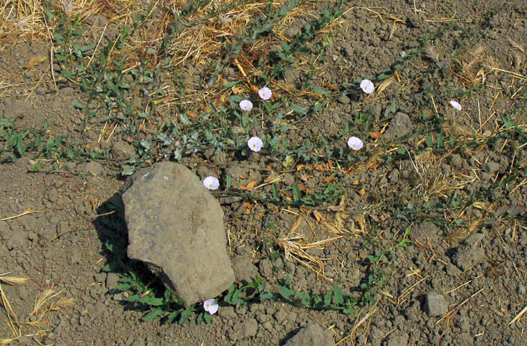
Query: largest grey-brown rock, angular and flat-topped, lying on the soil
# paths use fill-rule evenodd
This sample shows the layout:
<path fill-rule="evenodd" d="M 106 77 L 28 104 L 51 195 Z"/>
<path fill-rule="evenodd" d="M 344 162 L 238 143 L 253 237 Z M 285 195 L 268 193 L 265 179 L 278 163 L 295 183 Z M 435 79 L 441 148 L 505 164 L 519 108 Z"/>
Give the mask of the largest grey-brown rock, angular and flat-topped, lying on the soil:
<path fill-rule="evenodd" d="M 223 211 L 181 164 L 159 162 L 123 187 L 128 257 L 150 270 L 185 304 L 220 295 L 234 282 Z"/>

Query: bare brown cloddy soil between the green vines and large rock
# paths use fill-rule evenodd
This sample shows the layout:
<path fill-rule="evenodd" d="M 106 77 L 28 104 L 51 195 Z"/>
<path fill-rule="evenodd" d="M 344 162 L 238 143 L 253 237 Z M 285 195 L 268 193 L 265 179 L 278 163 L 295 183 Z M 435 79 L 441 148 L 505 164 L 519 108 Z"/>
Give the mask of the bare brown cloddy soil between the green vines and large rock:
<path fill-rule="evenodd" d="M 414 4 L 420 12 L 415 11 Z M 295 28 L 320 15 L 325 5 L 304 4 L 302 11 L 277 27 L 277 32 L 286 37 L 294 34 Z M 158 4 L 155 19 L 163 17 L 165 6 L 170 6 L 167 1 Z M 435 78 L 434 64 L 448 60 L 456 49 L 462 53 L 457 55 L 457 61 L 449 63 L 453 67 L 457 64 L 458 69 L 452 68 L 449 70 L 452 72 L 444 72 L 436 78 L 440 80 L 441 90 L 448 93 L 449 89 L 458 89 L 460 85 L 474 85 L 473 80 L 481 81 L 481 76 L 485 76 L 487 86 L 463 98 L 463 112 L 455 113 L 448 104 L 449 98 L 444 97 L 440 103 L 429 107 L 430 112 L 435 109 L 443 114 L 444 129 L 456 138 L 470 138 L 475 132 L 483 143 L 490 134 L 506 131 L 501 116 L 510 114 L 510 110 L 521 102 L 515 98 L 515 92 L 525 87 L 527 75 L 527 54 L 510 41 L 527 48 L 527 5 L 524 1 L 459 1 L 456 6 L 453 30 L 433 42 L 438 61 L 421 54 L 401 69 L 399 76 L 383 92 L 368 98 L 349 94 L 329 103 L 316 116 L 292 128 L 288 139 L 295 143 L 320 133 L 334 132 L 345 123 L 356 123 L 358 114 L 365 109 L 371 110 L 376 119 L 370 131 L 381 132 L 389 123 L 383 114 L 393 100 L 397 100 L 398 111 L 410 114 L 415 123 L 414 119 L 421 114 L 415 114 L 414 110 L 430 102 L 426 85 L 433 83 Z M 343 10 L 345 15 L 325 31 L 330 31 L 331 37 L 321 53 L 325 59 L 314 69 L 312 85 L 330 89 L 331 85 L 380 73 L 416 48 L 427 32 L 443 26 L 453 12 L 452 6 L 445 1 L 389 1 L 382 6 L 370 1 L 346 1 Z M 494 15 L 482 31 L 481 23 L 489 11 L 494 11 Z M 104 17 L 104 13 L 100 15 Z M 109 37 L 117 32 L 111 23 L 106 32 Z M 153 23 L 155 26 L 155 21 Z M 478 35 L 459 36 L 472 28 Z M 101 26 L 92 29 L 101 32 Z M 134 39 L 141 40 L 141 35 L 138 33 Z M 297 71 L 302 71 L 304 66 L 314 66 L 320 59 L 318 47 L 313 44 L 309 48 L 311 53 L 299 58 L 298 69 L 288 71 L 283 80 L 276 81 L 277 94 L 294 90 L 295 80 L 302 78 Z M 94 116 L 83 131 L 81 112 L 73 105 L 85 102 L 85 94 L 65 80 L 55 89 L 46 60 L 28 68 L 28 61 L 45 51 L 49 51 L 49 41 L 42 38 L 32 40 L 26 36 L 24 40 L 2 44 L 0 117 L 15 119 L 17 128 L 33 130 L 42 128 L 44 121 L 48 121 L 46 131 L 49 135 L 76 138 L 80 148 L 115 153 L 116 146 L 128 143 L 129 135 L 124 128 L 116 128 L 110 136 L 108 129 L 114 124 L 102 120 L 106 114 Z M 472 58 L 474 65 L 467 67 Z M 198 89 L 205 80 L 202 66 L 196 66 L 196 61 L 189 58 L 180 67 L 182 80 L 189 89 Z M 234 65 L 228 72 L 239 76 Z M 147 101 L 139 92 L 140 83 L 132 78 L 130 83 L 128 100 L 137 108 L 144 108 Z M 157 83 L 175 89 L 170 81 Z M 193 99 L 198 107 L 201 96 Z M 148 119 L 145 128 L 156 128 L 164 119 L 173 118 L 173 112 L 171 104 L 157 107 L 157 119 Z M 521 126 L 527 124 L 525 109 L 516 114 L 515 121 Z M 141 132 L 141 136 L 148 138 L 148 132 Z M 392 139 L 390 148 L 404 144 L 411 149 L 422 140 L 426 138 L 419 135 L 405 141 Z M 365 141 L 372 155 L 377 153 L 379 141 L 371 138 Z M 516 139 L 498 138 L 492 145 L 483 144 L 481 148 L 445 155 L 444 160 L 433 153 L 431 158 L 414 159 L 424 162 L 422 172 L 425 175 L 433 172 L 431 176 L 444 177 L 444 190 L 448 193 L 456 190 L 463 200 L 499 180 L 509 171 L 513 159 L 525 160 L 524 148 L 515 149 L 521 144 L 524 143 Z M 338 145 L 345 147 L 345 143 Z M 379 150 L 385 149 L 386 146 L 379 146 Z M 166 153 L 172 151 L 173 148 L 166 149 Z M 161 159 L 162 155 L 159 157 Z M 273 171 L 286 174 L 283 184 L 304 183 L 316 191 L 325 185 L 326 178 L 336 177 L 345 187 L 347 209 L 340 213 L 320 210 L 325 222 L 317 222 L 313 214 L 303 214 L 297 208 L 278 209 L 273 214 L 267 212 L 270 210 L 266 205 L 254 201 L 244 204 L 234 200 L 223 204 L 225 228 L 230 236 L 229 254 L 233 261 L 241 263 L 238 273 L 249 277 L 257 273 L 266 279 L 270 289 L 276 287 L 279 279 L 290 277 L 294 289 L 323 293 L 338 284 L 345 293 L 352 293 L 370 274 L 368 255 L 374 254 L 375 249 L 383 250 L 397 243 L 401 230 L 411 226 L 411 238 L 420 241 L 421 245 L 392 253 L 383 268 L 391 275 L 390 283 L 380 288 L 374 305 L 363 306 L 354 315 L 265 302 L 221 306 L 211 325 L 189 322 L 180 326 L 159 320 L 141 322 L 139 319 L 144 311 L 132 309 L 130 304 L 109 293 L 117 284 L 118 275 L 102 270 L 108 261 L 105 234 L 112 230 L 105 228 L 107 224 L 101 220 L 104 216 L 98 215 L 101 214 L 98 207 L 105 205 L 123 183 L 119 177 L 121 162 L 118 159 L 111 164 L 97 159 L 69 162 L 44 159 L 41 161 L 44 169 L 32 172 L 29 168 L 35 164 L 35 157 L 28 155 L 0 166 L 0 218 L 17 216 L 27 209 L 35 211 L 0 221 L 0 263 L 3 263 L 0 271 L 29 279 L 25 285 L 2 285 L 23 330 L 21 338 L 12 341 L 12 345 L 37 342 L 46 345 L 280 345 L 309 322 L 317 322 L 323 329 L 334 332 L 336 343 L 346 338 L 340 345 L 524 344 L 521 340 L 525 340 L 525 319 L 510 322 L 526 306 L 525 217 L 503 218 L 494 225 L 483 223 L 483 220 L 492 219 L 499 207 L 526 204 L 527 187 L 517 187 L 521 180 L 499 187 L 492 198 L 476 200 L 480 204 L 474 203 L 463 213 L 458 210 L 457 216 L 445 211 L 445 220 L 463 218 L 464 225 L 471 225 L 447 232 L 433 219 L 407 220 L 375 208 L 379 200 L 405 193 L 413 196 L 416 191 L 423 195 L 429 193 L 430 200 L 441 198 L 438 189 L 417 188 L 414 162 L 409 159 L 398 159 L 392 164 L 347 167 L 343 175 L 331 171 L 327 162 L 321 162 L 318 169 L 311 171 L 284 171 L 279 159 L 265 153 L 248 159 L 228 155 L 227 159 L 222 155 L 205 157 L 204 153 L 196 153 L 184 158 L 183 162 L 202 178 L 217 171 L 233 177 L 250 177 L 241 180 L 241 186 L 251 180 L 263 182 Z M 96 176 L 92 174 L 94 171 Z M 514 187 L 517 189 L 510 193 Z M 436 191 L 434 196 L 431 191 Z M 302 216 L 300 221 L 297 215 Z M 300 263 L 287 261 L 283 254 L 277 256 L 263 241 L 266 232 L 288 234 L 297 221 L 300 227 L 296 231 L 304 234 L 306 241 L 327 239 L 331 234 L 325 225 L 338 223 L 338 220 L 343 222 L 337 228 L 349 230 L 349 233 L 343 239 L 310 252 L 313 256 L 331 258 L 322 263 L 324 275 L 332 282 Z M 365 233 L 372 220 L 381 220 L 378 223 L 380 232 L 368 238 Z M 266 229 L 270 223 L 275 224 L 273 230 Z M 483 235 L 478 245 L 483 259 L 462 271 L 456 266 L 455 254 L 472 233 Z M 40 313 L 50 304 L 59 304 L 51 306 L 53 309 L 41 319 L 40 315 L 30 316 L 35 300 L 46 289 L 60 294 L 46 301 Z M 424 311 L 424 296 L 430 292 L 444 293 L 449 303 L 451 313 L 440 322 L 440 317 L 429 317 Z M 0 311 L 0 316 L 0 336 L 13 338 L 12 331 L 3 323 L 7 320 L 6 311 Z M 368 318 L 362 320 L 365 316 Z"/>

